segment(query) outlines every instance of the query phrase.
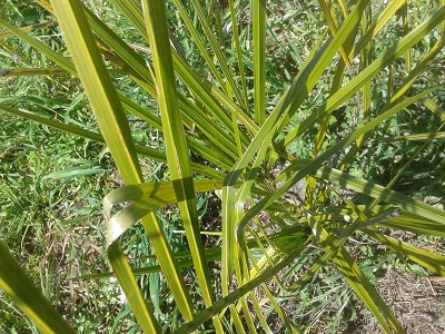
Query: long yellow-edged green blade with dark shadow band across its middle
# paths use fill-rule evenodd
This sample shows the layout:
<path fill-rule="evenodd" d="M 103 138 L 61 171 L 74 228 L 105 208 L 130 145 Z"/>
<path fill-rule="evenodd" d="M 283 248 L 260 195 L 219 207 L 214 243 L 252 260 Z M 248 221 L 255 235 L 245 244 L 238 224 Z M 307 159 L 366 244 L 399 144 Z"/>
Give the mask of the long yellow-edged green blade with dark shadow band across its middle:
<path fill-rule="evenodd" d="M 212 304 L 210 272 L 199 233 L 198 212 L 195 203 L 195 187 L 190 157 L 184 126 L 179 112 L 178 95 L 175 82 L 172 58 L 169 45 L 169 30 L 164 1 L 142 1 L 142 11 L 151 46 L 158 104 L 161 112 L 167 163 L 169 165 L 174 189 L 186 229 L 187 240 L 194 258 L 199 287 L 207 306 Z M 156 33 L 154 32 L 156 31 Z M 179 306 L 181 301 L 176 301 Z M 186 305 L 184 305 L 186 308 Z M 186 321 L 192 320 L 191 305 L 182 314 Z"/>

